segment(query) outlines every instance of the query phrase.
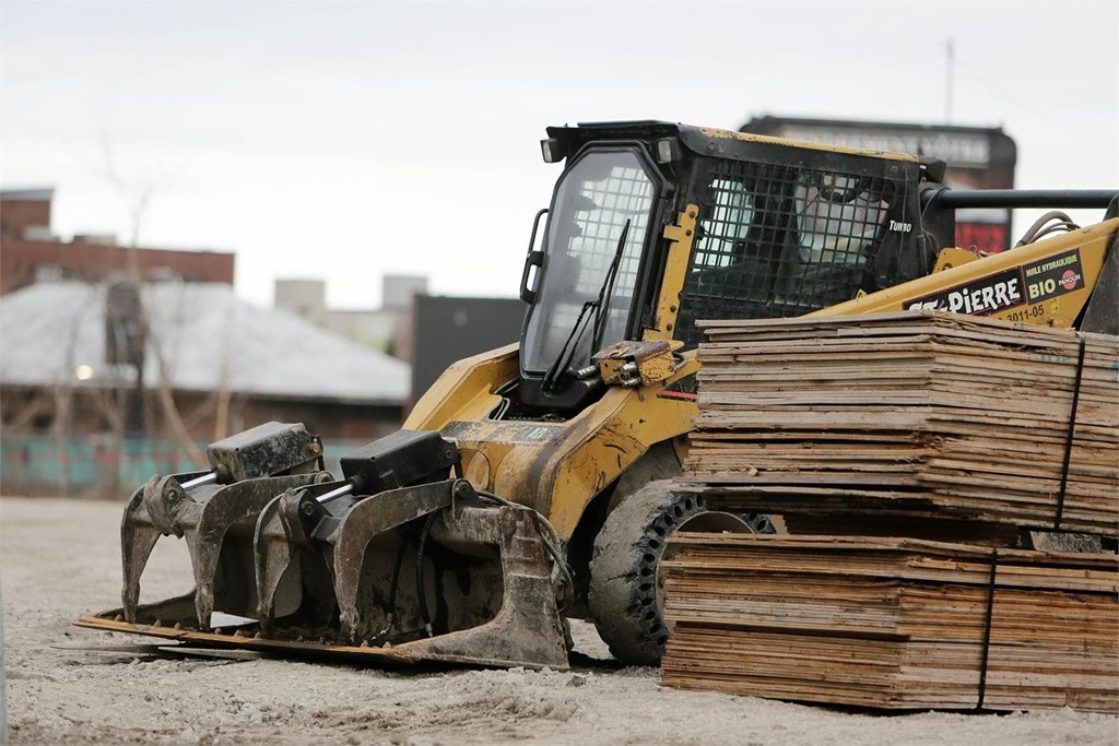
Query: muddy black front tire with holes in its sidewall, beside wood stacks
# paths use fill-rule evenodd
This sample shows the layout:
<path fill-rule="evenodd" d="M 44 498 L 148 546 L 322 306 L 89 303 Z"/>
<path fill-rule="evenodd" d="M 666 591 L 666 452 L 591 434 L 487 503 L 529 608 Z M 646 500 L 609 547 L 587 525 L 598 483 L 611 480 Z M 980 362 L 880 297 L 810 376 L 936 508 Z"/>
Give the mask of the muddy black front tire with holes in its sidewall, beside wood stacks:
<path fill-rule="evenodd" d="M 589 605 L 599 636 L 620 662 L 656 665 L 670 630 L 664 620 L 658 568 L 678 526 L 708 512 L 703 498 L 650 482 L 602 523 L 591 556 Z"/>

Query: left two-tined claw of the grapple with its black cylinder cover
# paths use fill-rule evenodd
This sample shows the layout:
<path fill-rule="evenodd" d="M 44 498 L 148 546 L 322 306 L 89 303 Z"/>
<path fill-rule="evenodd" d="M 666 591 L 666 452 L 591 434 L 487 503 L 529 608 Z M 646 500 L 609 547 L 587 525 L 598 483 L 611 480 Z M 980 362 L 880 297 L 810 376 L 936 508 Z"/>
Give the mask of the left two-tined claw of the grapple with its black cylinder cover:
<path fill-rule="evenodd" d="M 198 625 L 215 605 L 255 614 L 253 527 L 278 493 L 329 480 L 322 443 L 302 425 L 266 423 L 211 444 L 209 472 L 152 476 L 137 490 L 121 521 L 122 613 L 137 621 L 140 576 L 160 536 L 185 538 L 195 575 Z"/>

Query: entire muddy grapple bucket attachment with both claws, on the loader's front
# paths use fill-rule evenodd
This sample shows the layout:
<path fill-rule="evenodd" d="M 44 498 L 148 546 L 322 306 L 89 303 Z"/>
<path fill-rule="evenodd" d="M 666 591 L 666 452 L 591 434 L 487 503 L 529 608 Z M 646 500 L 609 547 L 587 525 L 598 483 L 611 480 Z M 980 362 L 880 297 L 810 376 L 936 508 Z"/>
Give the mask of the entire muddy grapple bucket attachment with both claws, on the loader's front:
<path fill-rule="evenodd" d="M 439 433 L 402 431 L 321 471 L 302 425 L 209 447 L 211 471 L 153 478 L 121 527 L 123 608 L 78 624 L 207 645 L 393 663 L 567 668 L 560 539 L 477 492 Z M 187 540 L 194 593 L 139 605 L 160 536 Z M 215 623 L 216 612 L 239 620 Z M 219 627 L 219 629 L 211 629 Z"/>

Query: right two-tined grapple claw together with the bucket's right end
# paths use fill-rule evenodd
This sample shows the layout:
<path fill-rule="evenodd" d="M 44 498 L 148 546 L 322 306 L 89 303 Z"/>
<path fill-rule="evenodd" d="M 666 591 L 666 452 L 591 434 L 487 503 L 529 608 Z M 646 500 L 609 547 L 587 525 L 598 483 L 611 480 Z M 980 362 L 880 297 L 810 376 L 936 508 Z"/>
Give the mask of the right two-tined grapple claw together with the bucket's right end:
<path fill-rule="evenodd" d="M 487 504 L 457 464 L 438 433 L 402 431 L 342 459 L 342 482 L 272 500 L 255 540 L 264 636 L 566 668 L 543 519 Z"/>

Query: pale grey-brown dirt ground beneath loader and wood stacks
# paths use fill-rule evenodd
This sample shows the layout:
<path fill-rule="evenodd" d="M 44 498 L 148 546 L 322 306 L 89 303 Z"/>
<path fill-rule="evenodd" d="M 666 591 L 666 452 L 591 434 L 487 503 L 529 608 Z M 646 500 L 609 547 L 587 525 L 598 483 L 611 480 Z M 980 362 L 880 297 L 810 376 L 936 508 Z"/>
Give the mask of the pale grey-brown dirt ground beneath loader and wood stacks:
<path fill-rule="evenodd" d="M 82 630 L 120 605 L 123 504 L 0 500 L 8 737 L 12 744 L 1108 744 L 1119 719 L 1071 710 L 877 716 L 660 687 L 619 669 L 593 627 L 571 671 L 384 671 L 96 652 L 152 639 Z M 144 601 L 189 588 L 163 539 Z"/>

